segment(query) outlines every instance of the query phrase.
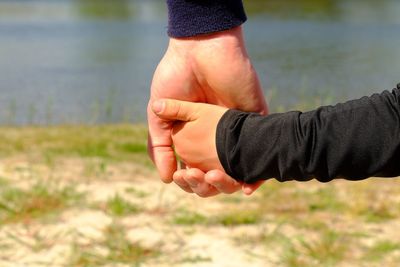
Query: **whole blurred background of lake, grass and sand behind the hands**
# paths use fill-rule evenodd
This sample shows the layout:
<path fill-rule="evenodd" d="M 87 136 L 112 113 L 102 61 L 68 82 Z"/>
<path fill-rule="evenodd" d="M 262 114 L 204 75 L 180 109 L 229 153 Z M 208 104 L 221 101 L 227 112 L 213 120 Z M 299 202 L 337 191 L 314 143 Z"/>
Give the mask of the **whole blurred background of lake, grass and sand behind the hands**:
<path fill-rule="evenodd" d="M 400 1 L 244 3 L 272 112 L 400 82 Z M 0 0 L 0 266 L 400 266 L 400 179 L 160 182 L 145 110 L 166 26 L 164 0 Z"/>

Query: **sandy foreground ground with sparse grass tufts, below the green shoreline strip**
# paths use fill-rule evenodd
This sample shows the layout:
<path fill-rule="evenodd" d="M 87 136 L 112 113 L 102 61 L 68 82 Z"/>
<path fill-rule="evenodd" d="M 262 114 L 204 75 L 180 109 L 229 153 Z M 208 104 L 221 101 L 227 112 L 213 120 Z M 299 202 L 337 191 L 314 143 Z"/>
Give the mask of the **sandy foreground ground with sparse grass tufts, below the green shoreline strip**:
<path fill-rule="evenodd" d="M 0 266 L 399 266 L 400 181 L 202 199 L 140 164 L 0 161 Z"/>

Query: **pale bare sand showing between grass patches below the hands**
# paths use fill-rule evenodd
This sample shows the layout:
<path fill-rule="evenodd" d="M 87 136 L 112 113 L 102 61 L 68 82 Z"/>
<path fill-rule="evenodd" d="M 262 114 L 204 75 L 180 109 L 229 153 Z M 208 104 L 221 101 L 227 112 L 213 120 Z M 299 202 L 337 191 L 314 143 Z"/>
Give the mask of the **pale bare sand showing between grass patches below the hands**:
<path fill-rule="evenodd" d="M 313 234 L 316 233 L 297 228 L 295 222 L 281 223 L 275 220 L 273 214 L 263 215 L 263 220 L 257 223 L 231 226 L 218 223 L 177 223 L 174 218 L 182 211 L 213 217 L 229 210 L 249 209 L 254 205 L 257 194 L 253 196 L 254 199 L 241 194 L 228 199 L 225 196 L 202 199 L 184 193 L 174 185 L 162 184 L 154 171 L 135 164 L 107 163 L 104 167 L 104 164 L 101 165 L 96 160 L 66 159 L 49 166 L 32 163 L 31 159 L 12 158 L 0 162 L 0 177 L 23 190 L 29 190 L 38 180 L 49 184 L 56 182 L 72 185 L 85 196 L 78 203 L 53 211 L 51 216 L 4 222 L 0 226 L 0 266 L 4 267 L 301 266 L 296 265 L 296 262 L 301 264 L 301 260 L 290 263 L 282 259 L 282 255 L 286 255 L 282 250 L 287 249 L 282 245 L 282 240 L 261 242 L 259 238 L 275 233 L 278 229 L 289 238 L 302 234 L 313 239 Z M 312 190 L 319 186 L 300 185 L 299 188 Z M 388 190 L 390 191 L 390 187 Z M 123 216 L 110 214 L 107 209 L 102 208 L 104 205 L 101 203 L 106 203 L 115 195 L 139 207 L 140 211 Z M 400 195 L 393 197 L 397 197 L 396 201 L 399 201 Z M 307 221 L 307 214 L 305 218 L 302 216 L 296 218 Z M 357 247 L 361 249 L 352 250 L 354 255 L 360 254 L 362 248 L 374 244 L 376 240 L 390 239 L 400 244 L 399 218 L 392 218 L 384 224 L 360 225 L 358 221 L 341 216 L 340 213 L 321 214 L 320 217 L 337 231 L 353 229 L 354 232 L 366 233 L 365 236 L 360 234 L 360 238 L 356 238 Z M 103 241 L 107 229 L 112 225 L 122 229 L 123 238 L 130 244 L 157 250 L 157 255 L 132 262 L 106 260 L 110 247 Z M 94 253 L 94 257 L 99 260 L 85 260 L 82 256 L 84 251 L 89 251 L 88 254 Z M 399 266 L 400 249 L 394 249 L 390 256 L 378 262 L 361 263 L 354 260 L 357 256 L 348 258 L 352 260 L 326 265 L 316 261 L 315 266 L 383 266 L 383 263 L 385 266 Z"/>

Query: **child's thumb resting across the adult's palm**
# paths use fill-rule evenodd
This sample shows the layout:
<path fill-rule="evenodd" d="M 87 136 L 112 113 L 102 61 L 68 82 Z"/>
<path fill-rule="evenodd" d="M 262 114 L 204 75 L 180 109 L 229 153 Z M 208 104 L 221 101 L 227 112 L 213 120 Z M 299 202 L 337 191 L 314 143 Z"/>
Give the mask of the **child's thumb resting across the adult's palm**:
<path fill-rule="evenodd" d="M 192 121 L 197 118 L 199 104 L 174 99 L 160 99 L 153 102 L 153 112 L 164 120 Z"/>

